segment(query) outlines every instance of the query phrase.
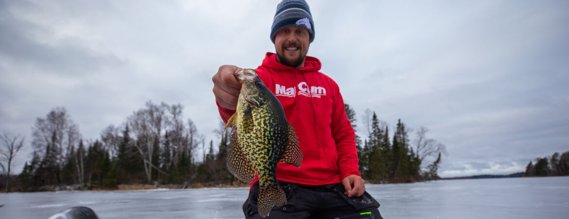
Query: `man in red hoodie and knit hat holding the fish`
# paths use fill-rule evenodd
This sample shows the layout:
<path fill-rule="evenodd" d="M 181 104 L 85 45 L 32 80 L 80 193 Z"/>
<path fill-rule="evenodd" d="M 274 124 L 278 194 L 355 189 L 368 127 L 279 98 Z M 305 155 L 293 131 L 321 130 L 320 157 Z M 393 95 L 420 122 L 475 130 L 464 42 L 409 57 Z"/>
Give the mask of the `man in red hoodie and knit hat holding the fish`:
<path fill-rule="evenodd" d="M 358 172 L 354 130 L 335 81 L 320 73 L 320 60 L 306 56 L 314 40 L 314 22 L 304 0 L 283 0 L 271 28 L 275 52 L 267 52 L 255 69 L 277 96 L 287 121 L 295 128 L 304 159 L 300 168 L 278 163 L 277 180 L 287 204 L 275 206 L 269 218 L 381 218 L 379 204 L 365 192 Z M 213 93 L 224 122 L 235 112 L 240 71 L 223 65 L 213 76 Z M 246 218 L 259 218 L 257 180 L 243 205 Z"/>

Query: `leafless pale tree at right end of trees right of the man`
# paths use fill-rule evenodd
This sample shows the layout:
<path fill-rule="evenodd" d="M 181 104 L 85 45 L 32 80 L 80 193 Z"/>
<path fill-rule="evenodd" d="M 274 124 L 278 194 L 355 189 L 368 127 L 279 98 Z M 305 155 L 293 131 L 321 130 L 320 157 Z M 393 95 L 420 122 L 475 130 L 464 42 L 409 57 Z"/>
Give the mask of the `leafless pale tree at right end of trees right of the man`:
<path fill-rule="evenodd" d="M 415 152 L 417 152 L 417 156 L 419 160 L 422 162 L 427 157 L 432 157 L 436 159 L 439 154 L 442 152 L 446 154 L 447 147 L 444 144 L 437 142 L 435 139 L 427 138 L 426 133 L 428 129 L 426 127 L 420 127 L 417 131 L 415 131 Z"/>

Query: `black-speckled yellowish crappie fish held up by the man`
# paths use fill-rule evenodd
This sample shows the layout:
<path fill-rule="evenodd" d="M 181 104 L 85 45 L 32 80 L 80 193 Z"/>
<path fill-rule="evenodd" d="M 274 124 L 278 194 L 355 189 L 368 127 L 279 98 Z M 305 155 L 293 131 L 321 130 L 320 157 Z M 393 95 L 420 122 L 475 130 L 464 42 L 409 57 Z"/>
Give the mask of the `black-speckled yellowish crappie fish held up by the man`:
<path fill-rule="evenodd" d="M 300 167 L 302 151 L 292 125 L 286 121 L 281 102 L 257 72 L 244 69 L 235 77 L 242 83 L 237 111 L 225 128 L 232 126 L 228 170 L 244 183 L 259 175 L 258 212 L 269 216 L 273 206 L 286 204 L 286 195 L 277 183 L 277 163 Z"/>

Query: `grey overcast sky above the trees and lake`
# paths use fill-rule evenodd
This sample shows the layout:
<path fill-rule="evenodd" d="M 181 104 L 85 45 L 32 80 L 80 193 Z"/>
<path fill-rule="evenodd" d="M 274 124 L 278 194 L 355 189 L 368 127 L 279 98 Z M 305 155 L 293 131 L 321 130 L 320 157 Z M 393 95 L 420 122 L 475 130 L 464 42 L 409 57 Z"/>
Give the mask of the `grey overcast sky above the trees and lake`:
<path fill-rule="evenodd" d="M 274 52 L 278 2 L 0 0 L 0 131 L 28 147 L 14 173 L 35 119 L 57 106 L 97 139 L 149 100 L 179 103 L 209 141 L 211 77 Z M 340 85 L 360 136 L 366 109 L 425 126 L 447 146 L 442 177 L 525 171 L 569 150 L 569 1 L 308 3 L 308 55 Z"/>

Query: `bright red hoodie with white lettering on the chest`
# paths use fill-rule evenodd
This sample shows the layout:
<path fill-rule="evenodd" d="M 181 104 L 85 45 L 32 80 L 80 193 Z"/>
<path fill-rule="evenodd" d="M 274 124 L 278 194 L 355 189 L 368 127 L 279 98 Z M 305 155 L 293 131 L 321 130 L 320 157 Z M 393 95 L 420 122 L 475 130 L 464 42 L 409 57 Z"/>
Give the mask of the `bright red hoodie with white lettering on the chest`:
<path fill-rule="evenodd" d="M 278 180 L 325 185 L 341 183 L 349 175 L 360 176 L 354 130 L 346 117 L 340 89 L 332 78 L 319 72 L 320 68 L 315 57 L 306 56 L 304 67 L 297 69 L 278 63 L 277 56 L 267 52 L 256 69 L 281 101 L 304 155 L 300 168 L 278 163 Z M 235 113 L 219 104 L 217 107 L 224 122 Z"/>

